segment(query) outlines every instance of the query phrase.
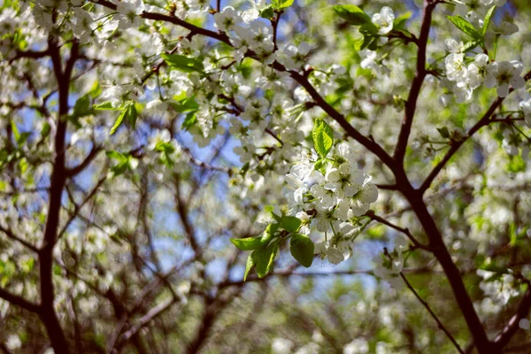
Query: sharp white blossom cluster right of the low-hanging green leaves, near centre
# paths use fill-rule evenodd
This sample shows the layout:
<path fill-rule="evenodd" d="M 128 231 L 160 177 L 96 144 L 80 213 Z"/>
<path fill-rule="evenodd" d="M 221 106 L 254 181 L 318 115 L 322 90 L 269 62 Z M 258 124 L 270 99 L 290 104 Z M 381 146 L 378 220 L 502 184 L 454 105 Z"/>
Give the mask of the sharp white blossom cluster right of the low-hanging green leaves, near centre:
<path fill-rule="evenodd" d="M 325 163 L 318 163 L 316 155 L 304 156 L 286 175 L 289 213 L 304 221 L 305 233 L 325 234 L 315 253 L 332 264 L 350 257 L 353 239 L 363 228 L 358 219 L 378 198 L 371 180 L 358 168 L 348 142 L 338 143 Z"/>

